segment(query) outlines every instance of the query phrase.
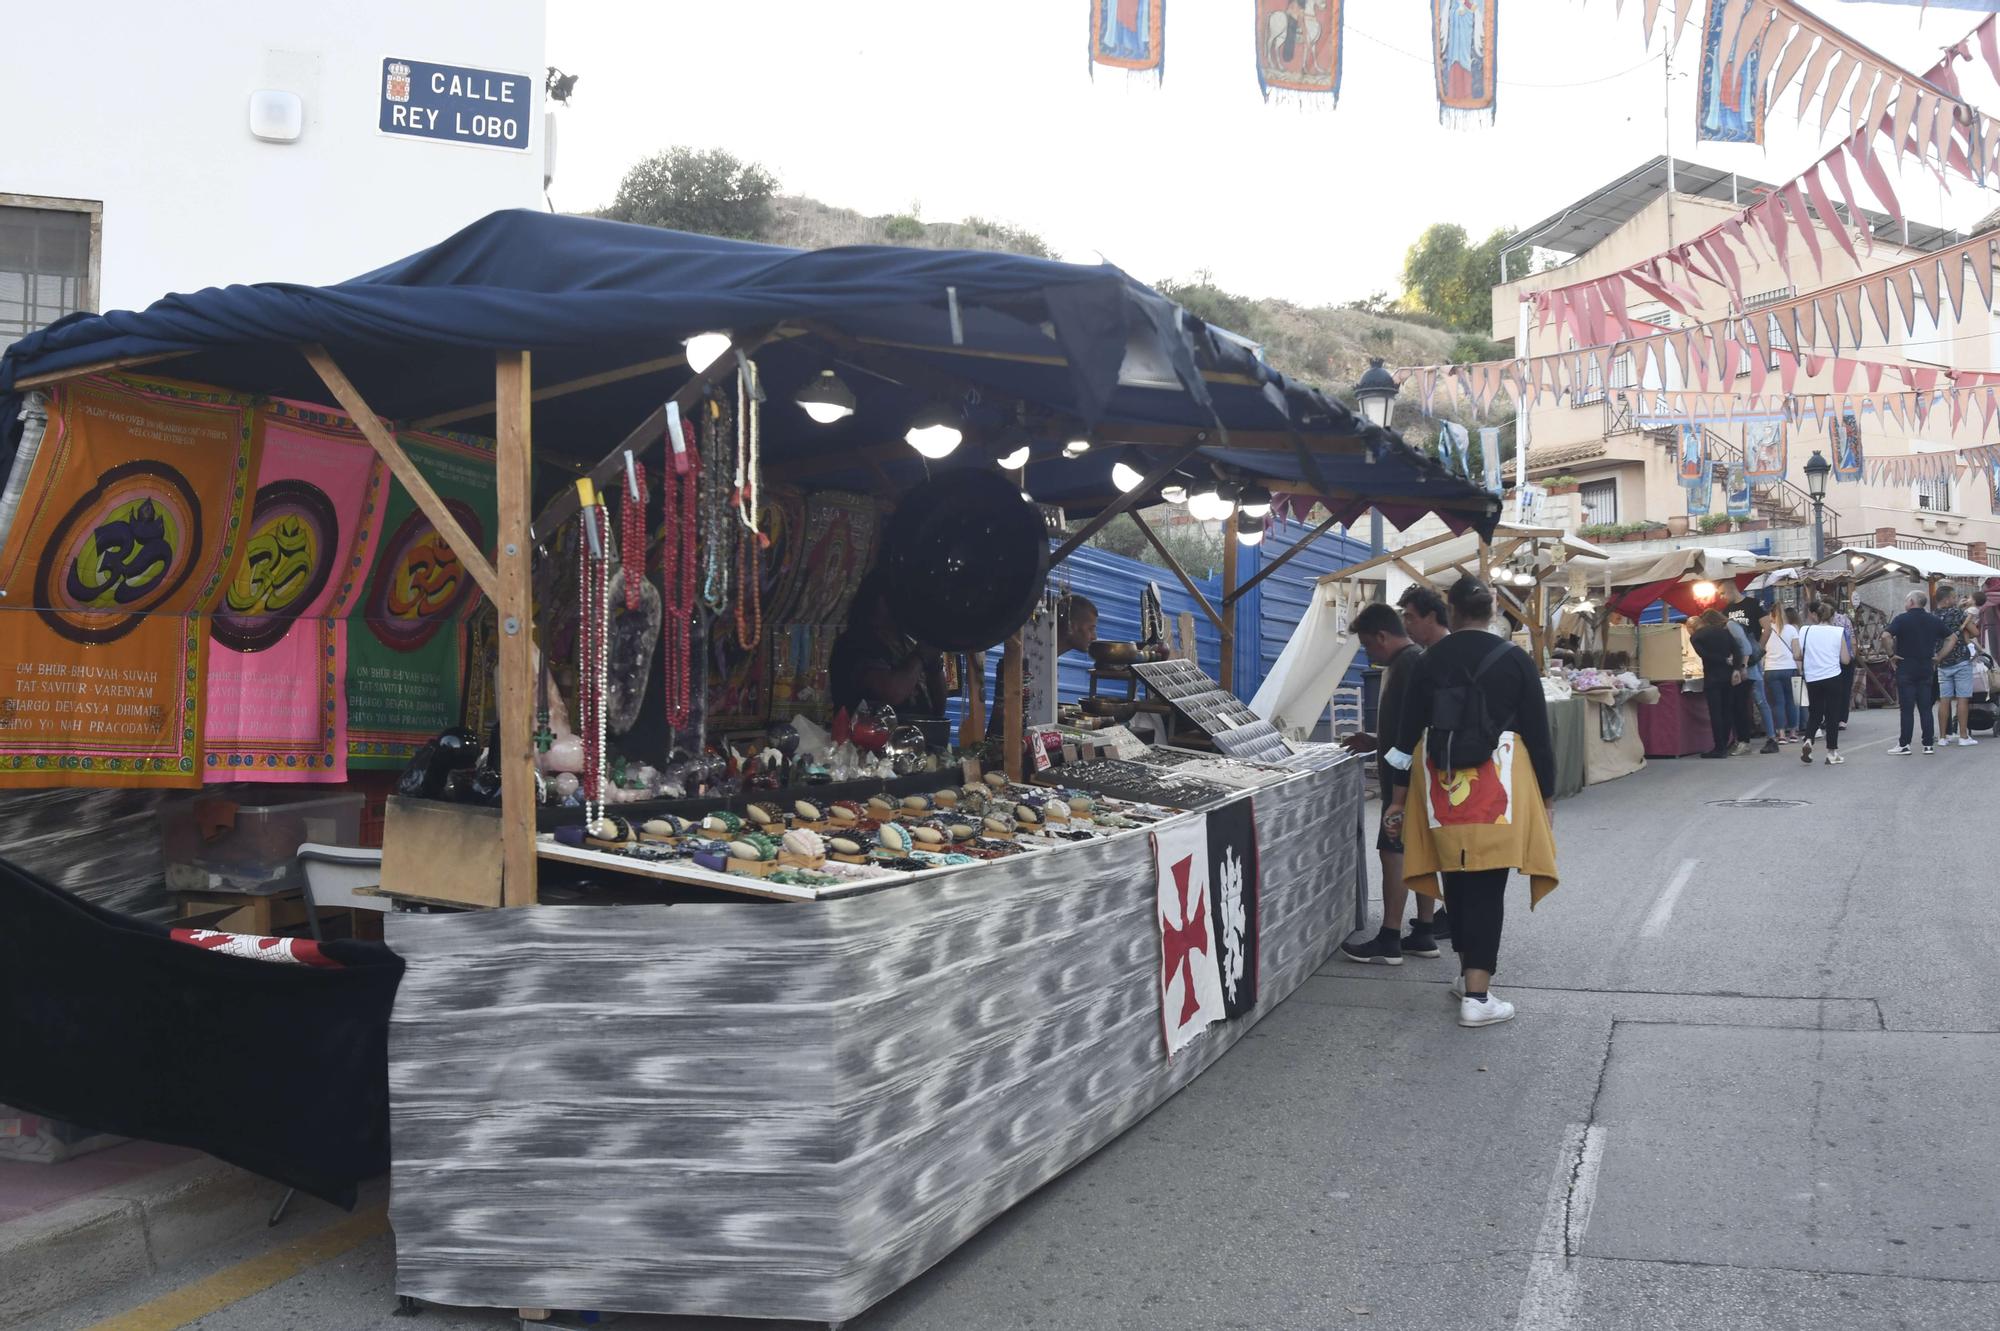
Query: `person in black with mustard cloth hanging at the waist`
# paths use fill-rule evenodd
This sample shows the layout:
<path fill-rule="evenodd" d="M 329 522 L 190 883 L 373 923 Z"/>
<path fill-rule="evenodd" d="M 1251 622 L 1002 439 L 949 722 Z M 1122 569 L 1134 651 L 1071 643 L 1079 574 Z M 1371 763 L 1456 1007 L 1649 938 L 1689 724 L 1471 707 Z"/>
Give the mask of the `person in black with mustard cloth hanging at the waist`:
<path fill-rule="evenodd" d="M 1514 1017 L 1514 1005 L 1490 989 L 1508 873 L 1528 873 L 1536 901 L 1556 885 L 1556 747 L 1534 662 L 1486 628 L 1492 590 L 1460 578 L 1446 602 L 1452 634 L 1418 658 L 1388 753 L 1396 771 L 1390 815 L 1404 819 L 1410 885 L 1426 891 L 1430 879 L 1420 875 L 1430 871 L 1444 881 L 1460 965 L 1458 1023 L 1476 1027 Z M 1524 787 L 1530 765 L 1534 789 Z M 1420 789 L 1406 809 L 1412 775 Z"/>

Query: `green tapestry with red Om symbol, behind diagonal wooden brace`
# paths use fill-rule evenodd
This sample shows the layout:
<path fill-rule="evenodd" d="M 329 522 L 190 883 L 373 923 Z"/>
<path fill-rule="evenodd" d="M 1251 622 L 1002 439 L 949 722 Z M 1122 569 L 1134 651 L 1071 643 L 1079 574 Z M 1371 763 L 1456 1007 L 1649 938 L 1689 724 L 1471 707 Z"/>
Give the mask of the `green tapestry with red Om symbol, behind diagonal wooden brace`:
<path fill-rule="evenodd" d="M 494 446 L 460 434 L 398 434 L 482 550 L 498 526 Z M 400 769 L 458 723 L 464 622 L 480 596 L 400 482 L 390 480 L 376 558 L 348 612 L 348 767 Z"/>

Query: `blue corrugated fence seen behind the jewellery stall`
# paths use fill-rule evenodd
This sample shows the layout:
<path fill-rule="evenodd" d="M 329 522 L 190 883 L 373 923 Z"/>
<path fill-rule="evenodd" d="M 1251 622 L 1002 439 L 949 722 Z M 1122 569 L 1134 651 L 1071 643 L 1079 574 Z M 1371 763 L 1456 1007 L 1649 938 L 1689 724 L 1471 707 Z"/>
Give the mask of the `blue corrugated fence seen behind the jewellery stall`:
<path fill-rule="evenodd" d="M 1274 522 L 1260 546 L 1238 548 L 1236 582 L 1242 586 L 1264 566 L 1284 556 L 1312 534 L 1312 526 L 1300 522 Z M 1348 536 L 1328 532 L 1302 550 L 1290 564 L 1260 582 L 1248 596 L 1236 602 L 1236 679 L 1238 697 L 1252 697 L 1270 667 L 1278 664 L 1278 654 L 1290 642 L 1292 630 L 1306 614 L 1312 586 L 1322 574 L 1330 574 L 1368 558 L 1368 544 Z M 1194 586 L 1202 590 L 1210 606 L 1222 606 L 1222 572 L 1188 570 Z M 1052 580 L 1068 586 L 1070 592 L 1090 598 L 1098 608 L 1098 638 L 1110 642 L 1138 640 L 1138 600 L 1146 584 L 1160 588 L 1160 608 L 1168 620 L 1178 624 L 1182 612 L 1194 616 L 1194 656 L 1208 675 L 1222 675 L 1222 636 L 1208 622 L 1202 608 L 1172 572 L 1128 560 L 1108 550 L 1084 546 L 1052 570 Z M 1224 612 L 1228 614 L 1228 612 Z M 1178 630 L 1176 630 L 1178 632 Z M 1346 683 L 1360 683 L 1366 662 L 1356 658 L 1348 667 Z M 1000 671 L 1000 652 L 986 654 L 986 697 L 994 695 L 994 681 Z M 1056 693 L 1062 701 L 1076 701 L 1090 691 L 1090 658 L 1080 652 L 1064 652 L 1056 662 Z M 1120 693 L 1122 695 L 1122 693 Z M 958 715 L 954 703 L 952 715 Z"/>

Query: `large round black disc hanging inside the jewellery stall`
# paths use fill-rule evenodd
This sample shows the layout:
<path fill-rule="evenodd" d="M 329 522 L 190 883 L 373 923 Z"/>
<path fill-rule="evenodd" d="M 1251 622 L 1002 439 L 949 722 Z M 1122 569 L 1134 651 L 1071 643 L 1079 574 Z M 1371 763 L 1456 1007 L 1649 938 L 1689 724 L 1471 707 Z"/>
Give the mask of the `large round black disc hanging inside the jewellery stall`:
<path fill-rule="evenodd" d="M 1042 600 L 1048 528 L 996 472 L 946 472 L 896 506 L 882 566 L 896 628 L 942 652 L 982 652 Z"/>

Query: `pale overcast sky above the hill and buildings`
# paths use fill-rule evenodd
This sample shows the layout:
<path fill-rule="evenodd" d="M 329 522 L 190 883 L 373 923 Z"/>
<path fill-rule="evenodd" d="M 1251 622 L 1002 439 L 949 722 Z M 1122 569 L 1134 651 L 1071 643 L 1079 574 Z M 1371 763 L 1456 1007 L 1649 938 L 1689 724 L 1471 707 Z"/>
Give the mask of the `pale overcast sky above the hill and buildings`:
<path fill-rule="evenodd" d="M 1916 70 L 1980 18 L 1808 4 Z M 1230 290 L 1318 304 L 1394 292 L 1404 250 L 1432 222 L 1526 226 L 1664 152 L 1668 136 L 1682 158 L 1770 182 L 1830 146 L 1796 128 L 1796 88 L 1770 114 L 1768 148 L 1698 146 L 1694 32 L 1674 56 L 1668 114 L 1642 0 L 1622 14 L 1614 0 L 1502 4 L 1500 114 L 1474 130 L 1438 124 L 1422 0 L 1348 0 L 1332 112 L 1262 100 L 1250 0 L 1172 0 L 1158 84 L 1110 70 L 1092 80 L 1088 8 L 552 0 L 548 60 L 580 82 L 560 108 L 550 196 L 596 208 L 634 160 L 718 146 L 762 162 L 786 194 L 928 222 L 1004 220 L 1064 258 L 1102 256 L 1146 282 L 1206 268 Z M 1990 80 L 1968 92 L 2000 110 Z M 1914 218 L 1948 226 L 2000 206 L 1970 184 L 1942 198 L 1914 166 L 1896 188 Z"/>

